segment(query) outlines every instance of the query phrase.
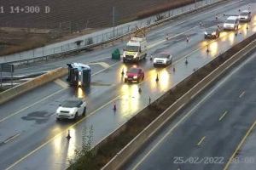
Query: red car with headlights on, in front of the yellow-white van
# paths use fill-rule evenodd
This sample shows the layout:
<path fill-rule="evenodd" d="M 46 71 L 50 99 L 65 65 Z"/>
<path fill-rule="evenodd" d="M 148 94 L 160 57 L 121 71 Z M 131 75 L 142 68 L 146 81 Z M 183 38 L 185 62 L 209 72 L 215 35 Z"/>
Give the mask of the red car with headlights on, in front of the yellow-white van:
<path fill-rule="evenodd" d="M 125 75 L 125 82 L 141 82 L 143 79 L 144 71 L 141 68 L 132 67 Z"/>

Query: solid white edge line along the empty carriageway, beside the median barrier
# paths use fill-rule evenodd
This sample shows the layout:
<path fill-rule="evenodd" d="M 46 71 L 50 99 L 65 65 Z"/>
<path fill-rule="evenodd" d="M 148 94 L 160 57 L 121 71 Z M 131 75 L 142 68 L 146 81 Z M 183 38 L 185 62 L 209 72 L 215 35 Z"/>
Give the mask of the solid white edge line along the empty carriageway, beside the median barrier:
<path fill-rule="evenodd" d="M 242 49 L 241 49 L 242 50 Z M 201 101 L 199 101 L 186 115 L 184 115 L 168 132 L 166 132 L 166 134 L 156 143 L 154 144 L 154 146 L 148 150 L 147 154 L 145 156 L 143 156 L 143 158 L 137 162 L 137 164 L 132 167 L 132 170 L 137 169 L 138 166 L 140 166 L 140 164 L 142 164 L 142 162 L 164 141 L 164 139 L 166 139 L 167 136 L 169 136 L 175 129 L 176 127 L 181 124 L 182 122 L 184 122 L 186 120 L 186 118 L 188 118 L 190 115 L 193 114 L 193 111 L 195 111 L 195 109 L 197 109 L 206 99 L 208 99 L 220 86 L 222 86 L 224 84 L 224 82 L 226 82 L 231 76 L 233 76 L 237 71 L 239 71 L 241 69 L 242 66 L 246 65 L 249 61 L 251 61 L 253 58 L 255 57 L 255 55 L 253 55 L 253 57 L 247 59 L 245 62 L 241 63 L 241 65 L 237 66 L 236 69 L 232 72 L 230 72 L 230 74 L 226 77 L 224 77 L 224 79 L 221 82 L 218 82 L 218 84 L 212 89 L 212 91 L 210 93 L 208 93 L 203 99 L 201 99 Z"/>

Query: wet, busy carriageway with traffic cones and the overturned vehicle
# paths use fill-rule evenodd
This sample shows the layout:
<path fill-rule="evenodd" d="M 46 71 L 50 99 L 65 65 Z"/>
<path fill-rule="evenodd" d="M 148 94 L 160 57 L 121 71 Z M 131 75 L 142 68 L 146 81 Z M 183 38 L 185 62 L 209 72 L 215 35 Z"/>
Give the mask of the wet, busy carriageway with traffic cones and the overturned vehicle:
<path fill-rule="evenodd" d="M 241 25 L 239 34 L 223 32 L 218 40 L 204 40 L 205 26 L 216 24 L 215 15 L 223 13 L 237 14 L 238 8 L 248 8 L 253 1 L 230 1 L 196 14 L 172 20 L 164 26 L 148 32 L 148 54 L 170 51 L 173 55 L 176 71 L 172 66 L 154 69 L 147 59 L 139 65 L 146 77 L 141 84 L 128 85 L 123 82 L 121 71 L 132 65 L 124 65 L 109 59 L 114 48 L 123 48 L 125 42 L 118 42 L 113 47 L 102 48 L 89 53 L 78 54 L 73 58 L 52 60 L 48 63 L 35 64 L 18 69 L 17 75 L 30 72 L 49 71 L 70 62 L 90 63 L 93 71 L 92 86 L 89 91 L 67 86 L 65 77 L 21 95 L 17 99 L 0 105 L 0 169 L 63 169 L 68 166 L 68 159 L 73 158 L 74 149 L 81 146 L 84 128 L 93 127 L 93 145 L 101 141 L 124 124 L 132 116 L 148 105 L 148 97 L 157 99 L 177 82 L 188 77 L 194 69 L 207 64 L 214 57 L 241 42 L 256 31 L 256 18 L 248 25 Z M 256 10 L 255 3 L 250 6 Z M 256 11 L 253 11 L 255 14 Z M 166 34 L 172 39 L 166 40 Z M 189 42 L 186 42 L 186 35 Z M 207 54 L 207 44 L 210 53 Z M 184 64 L 188 58 L 189 64 Z M 159 74 L 160 82 L 155 82 Z M 138 88 L 143 93 L 138 93 Z M 55 122 L 55 110 L 64 99 L 85 97 L 88 103 L 87 116 L 78 122 Z M 117 111 L 113 111 L 116 102 Z M 65 138 L 67 129 L 72 139 Z M 15 151 L 14 151 L 15 150 Z"/>

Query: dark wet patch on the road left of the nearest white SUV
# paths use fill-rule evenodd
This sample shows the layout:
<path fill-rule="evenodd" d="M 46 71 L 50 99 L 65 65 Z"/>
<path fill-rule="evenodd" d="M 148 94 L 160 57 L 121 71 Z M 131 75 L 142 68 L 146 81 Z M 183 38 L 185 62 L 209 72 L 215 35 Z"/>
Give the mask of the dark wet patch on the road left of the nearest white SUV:
<path fill-rule="evenodd" d="M 51 115 L 53 115 L 53 113 L 48 113 L 46 111 L 34 111 L 29 113 L 27 116 L 22 116 L 21 119 L 25 121 L 35 121 L 36 123 L 41 124 L 47 122 Z"/>

